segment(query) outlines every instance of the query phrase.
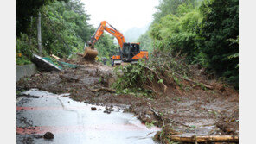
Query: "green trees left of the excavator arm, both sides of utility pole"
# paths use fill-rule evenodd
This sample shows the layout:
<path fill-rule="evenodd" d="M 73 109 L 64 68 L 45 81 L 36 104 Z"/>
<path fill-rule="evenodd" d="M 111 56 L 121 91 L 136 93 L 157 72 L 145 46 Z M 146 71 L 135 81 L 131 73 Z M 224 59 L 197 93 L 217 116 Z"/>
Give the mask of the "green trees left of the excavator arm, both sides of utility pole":
<path fill-rule="evenodd" d="M 40 10 L 42 17 L 42 55 L 54 54 L 61 58 L 71 58 L 74 57 L 74 53 L 83 53 L 86 41 L 94 32 L 94 28 L 88 24 L 89 15 L 84 10 L 84 4 L 80 0 L 53 2 L 44 3 L 40 6 L 41 9 L 36 9 L 35 16 Z M 19 3 L 25 4 L 25 2 Z M 24 63 L 23 59 L 29 60 L 32 53 L 37 53 L 37 18 L 35 16 L 26 17 L 29 19 L 28 27 L 24 27 L 26 33 L 20 33 L 17 37 L 17 53 L 24 55 L 24 57 L 17 57 L 18 64 Z M 17 17 L 17 19 L 24 18 Z M 19 21 L 17 21 L 17 27 L 18 25 Z"/>

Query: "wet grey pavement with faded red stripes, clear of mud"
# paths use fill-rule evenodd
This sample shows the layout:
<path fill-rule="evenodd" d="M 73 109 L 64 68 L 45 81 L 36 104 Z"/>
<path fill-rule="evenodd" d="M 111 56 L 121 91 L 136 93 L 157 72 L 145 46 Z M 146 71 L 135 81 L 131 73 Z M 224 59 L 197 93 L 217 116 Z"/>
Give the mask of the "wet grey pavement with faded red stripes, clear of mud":
<path fill-rule="evenodd" d="M 65 95 L 36 89 L 22 92 L 16 104 L 17 143 L 157 143 L 152 136 L 159 128 L 147 128 L 118 107 L 107 114 L 105 107 Z M 54 139 L 38 137 L 46 132 L 53 133 Z"/>

